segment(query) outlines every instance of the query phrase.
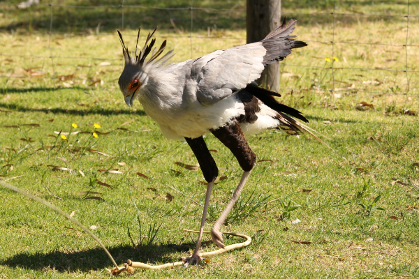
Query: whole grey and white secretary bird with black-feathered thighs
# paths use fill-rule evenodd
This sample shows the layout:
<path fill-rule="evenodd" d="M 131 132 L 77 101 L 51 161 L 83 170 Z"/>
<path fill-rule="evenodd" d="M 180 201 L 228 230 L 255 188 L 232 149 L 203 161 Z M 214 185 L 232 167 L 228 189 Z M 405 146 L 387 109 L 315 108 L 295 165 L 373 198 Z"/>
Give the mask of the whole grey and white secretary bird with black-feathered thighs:
<path fill-rule="evenodd" d="M 212 187 L 219 174 L 203 135 L 212 133 L 217 137 L 233 152 L 244 170 L 233 197 L 211 230 L 212 241 L 223 248 L 223 235 L 219 229 L 256 163 L 256 154 L 244 135 L 267 128 L 281 128 L 291 134 L 300 130 L 310 133 L 307 126 L 291 118 L 308 122 L 299 111 L 278 103 L 274 96 L 280 97 L 279 93 L 258 87 L 254 82 L 264 66 L 283 60 L 293 48 L 307 45 L 290 36 L 294 29 L 295 20 L 286 24 L 284 18 L 281 27 L 258 43 L 217 50 L 197 59 L 170 64 L 167 62 L 172 58 L 173 50 L 161 56 L 166 40 L 159 50 L 156 47 L 152 50 L 156 39 L 150 39 L 156 29 L 149 33 L 139 53 L 138 31 L 135 56 L 130 55 L 118 31 L 125 59 L 118 83 L 126 105 L 132 107 L 133 101 L 138 99 L 145 113 L 159 123 L 163 135 L 171 140 L 186 140 L 208 182 L 196 249 L 191 257 L 182 258 L 185 266 L 202 260 L 200 243 Z"/>

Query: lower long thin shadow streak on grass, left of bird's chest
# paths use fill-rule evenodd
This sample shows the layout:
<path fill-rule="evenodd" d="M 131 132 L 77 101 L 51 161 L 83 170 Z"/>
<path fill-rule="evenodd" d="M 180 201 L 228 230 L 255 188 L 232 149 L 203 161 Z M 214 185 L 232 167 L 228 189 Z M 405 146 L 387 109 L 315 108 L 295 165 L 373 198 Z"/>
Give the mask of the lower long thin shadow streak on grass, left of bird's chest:
<path fill-rule="evenodd" d="M 68 115 L 91 115 L 91 114 L 101 114 L 105 116 L 110 115 L 120 115 L 120 114 L 135 114 L 140 116 L 145 116 L 145 112 L 142 110 L 108 110 L 102 107 L 94 107 L 90 110 L 66 110 L 61 107 L 55 107 L 52 109 L 49 108 L 41 108 L 35 109 L 31 107 L 24 107 L 22 105 L 16 104 L 3 104 L 0 103 L 0 107 L 6 110 L 15 110 L 17 112 L 44 112 L 45 114 L 52 113 L 52 114 L 68 114 Z"/>

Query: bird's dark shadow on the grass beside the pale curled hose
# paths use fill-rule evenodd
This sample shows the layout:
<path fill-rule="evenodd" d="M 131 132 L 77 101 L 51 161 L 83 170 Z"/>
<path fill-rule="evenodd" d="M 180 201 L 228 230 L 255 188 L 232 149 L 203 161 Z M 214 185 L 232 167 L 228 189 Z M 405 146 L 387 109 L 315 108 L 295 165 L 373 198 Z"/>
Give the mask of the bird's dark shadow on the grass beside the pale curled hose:
<path fill-rule="evenodd" d="M 149 262 L 155 264 L 159 262 L 177 262 L 179 258 L 174 257 L 176 252 L 186 252 L 193 249 L 193 243 L 161 244 L 150 246 L 132 246 L 124 245 L 108 248 L 117 264 L 122 265 L 127 259 L 134 262 Z M 16 268 L 19 266 L 24 269 L 42 270 L 50 266 L 51 269 L 63 271 L 89 271 L 104 269 L 112 266 L 112 262 L 101 248 L 94 248 L 83 251 L 53 251 L 53 252 L 35 252 L 29 254 L 22 252 L 9 259 L 5 259 L 2 264 Z"/>

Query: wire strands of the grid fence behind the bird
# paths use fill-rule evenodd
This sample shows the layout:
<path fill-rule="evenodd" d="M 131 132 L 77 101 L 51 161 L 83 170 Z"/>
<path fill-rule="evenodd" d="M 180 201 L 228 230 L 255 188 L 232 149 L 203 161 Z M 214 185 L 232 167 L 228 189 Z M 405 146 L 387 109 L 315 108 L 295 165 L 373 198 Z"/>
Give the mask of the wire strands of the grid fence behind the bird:
<path fill-rule="evenodd" d="M 16 6 L 15 3 L 8 3 L 3 2 L 0 3 L 0 7 L 3 8 L 4 6 Z M 189 38 L 189 44 L 190 44 L 190 56 L 191 59 L 193 58 L 193 38 L 200 38 L 200 39 L 219 39 L 219 40 L 246 40 L 246 38 L 230 38 L 226 36 L 192 36 L 193 33 L 193 10 L 203 10 L 203 11 L 215 11 L 215 12 L 237 12 L 237 11 L 245 11 L 244 9 L 237 9 L 237 8 L 201 8 L 201 7 L 195 7 L 193 6 L 193 0 L 190 1 L 190 6 L 186 7 L 156 7 L 156 6 L 142 6 L 142 5 L 125 5 L 125 0 L 121 1 L 120 5 L 98 5 L 98 6 L 82 6 L 82 5 L 65 5 L 60 3 L 53 3 L 53 0 L 50 0 L 50 3 L 37 3 L 38 6 L 49 6 L 50 7 L 50 27 L 49 31 L 31 31 L 31 33 L 41 33 L 41 34 L 48 34 L 48 50 L 50 53 L 50 56 L 41 56 L 41 55 L 24 55 L 24 54 L 11 54 L 11 53 L 3 53 L 0 52 L 0 56 L 6 56 L 6 57 L 27 57 L 27 58 L 35 58 L 35 59 L 50 59 L 51 65 L 52 65 L 52 76 L 51 77 L 41 77 L 41 78 L 50 78 L 52 80 L 60 79 L 61 77 L 56 75 L 55 71 L 55 64 L 54 59 L 89 59 L 89 60 L 98 60 L 98 61 L 122 61 L 123 59 L 105 59 L 101 57 L 96 56 L 58 56 L 54 55 L 54 52 L 52 51 L 51 43 L 52 43 L 52 34 L 61 34 L 66 35 L 68 33 L 62 32 L 62 31 L 53 31 L 53 22 L 54 22 L 54 7 L 57 8 L 75 8 L 75 9 L 98 9 L 98 8 L 120 8 L 121 9 L 121 29 L 124 30 L 124 8 L 133 8 L 133 9 L 145 9 L 145 10 L 168 10 L 168 11 L 174 11 L 174 10 L 189 10 L 190 11 L 190 29 L 189 29 L 189 36 L 167 36 L 165 35 L 165 38 Z M 306 67 L 306 68 L 320 68 L 325 70 L 331 70 L 332 71 L 332 89 L 329 91 L 335 91 L 335 70 L 374 70 L 374 71 L 387 71 L 387 72 L 394 72 L 394 73 L 406 73 L 406 91 L 404 92 L 393 92 L 393 93 L 385 93 L 381 91 L 363 91 L 360 89 L 356 89 L 356 91 L 359 92 L 365 92 L 365 93 L 374 93 L 374 94 L 391 94 L 391 95 L 419 95 L 415 93 L 410 92 L 410 85 L 409 85 L 409 73 L 418 73 L 419 70 L 409 70 L 409 54 L 408 54 L 408 47 L 419 47 L 419 45 L 408 45 L 408 39 L 409 39 L 409 18 L 419 18 L 419 15 L 410 15 L 409 14 L 409 8 L 410 8 L 410 0 L 406 3 L 407 13 L 406 15 L 384 15 L 384 14 L 372 14 L 372 13 L 337 13 L 337 3 L 336 0 L 333 1 L 333 10 L 332 12 L 314 12 L 314 13 L 301 13 L 301 12 L 287 12 L 286 14 L 291 15 L 332 15 L 332 40 L 305 40 L 305 42 L 309 43 L 322 43 L 322 44 L 331 44 L 332 45 L 332 58 L 335 57 L 335 45 L 336 44 L 352 44 L 352 45 L 383 45 L 387 47 L 404 47 L 405 50 L 405 65 L 404 70 L 395 70 L 395 69 L 388 69 L 388 68 L 354 68 L 354 67 L 335 67 L 335 61 L 332 59 L 332 66 L 325 67 L 325 66 L 315 66 L 315 65 L 303 65 L 303 64 L 289 64 L 286 63 L 286 66 L 291 67 Z M 345 41 L 335 41 L 335 32 L 336 32 L 336 17 L 337 15 L 347 15 L 347 16 L 353 16 L 353 17 L 406 17 L 406 40 L 404 45 L 397 45 L 397 44 L 388 44 L 388 43 L 367 43 L 367 42 L 345 42 Z M 73 34 L 85 34 L 85 32 L 80 33 L 73 33 Z M 101 33 L 101 36 L 115 36 L 115 34 L 111 33 Z M 124 36 L 136 36 L 133 34 L 125 34 Z M 145 37 L 143 35 L 140 35 L 140 37 Z M 419 49 L 418 49 L 419 50 Z M 31 79 L 31 78 L 37 78 L 40 77 L 33 77 L 33 76 L 17 76 L 17 75 L 0 75 L 0 77 L 6 77 L 8 79 L 10 78 L 16 78 L 16 79 Z M 73 80 L 83 80 L 81 78 L 72 77 Z M 108 81 L 109 82 L 109 81 Z M 112 82 L 115 82 L 115 80 L 112 80 Z M 55 82 L 54 82 L 55 86 Z M 295 88 L 287 88 L 287 87 L 281 87 L 281 90 L 294 90 L 294 91 L 319 91 L 318 89 L 295 89 Z M 339 90 L 339 92 L 353 92 L 351 90 Z"/>

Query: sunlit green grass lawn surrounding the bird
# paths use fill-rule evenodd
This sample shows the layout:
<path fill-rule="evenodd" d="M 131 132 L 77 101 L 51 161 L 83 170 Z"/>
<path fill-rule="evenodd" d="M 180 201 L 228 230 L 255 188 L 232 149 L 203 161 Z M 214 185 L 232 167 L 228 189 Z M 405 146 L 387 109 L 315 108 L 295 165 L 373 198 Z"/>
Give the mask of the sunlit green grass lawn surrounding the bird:
<path fill-rule="evenodd" d="M 176 3 L 189 5 L 189 1 Z M 202 5 L 231 8 L 235 3 L 205 1 Z M 243 2 L 238 3 L 239 8 L 244 8 Z M 309 10 L 306 4 L 311 5 Z M 283 10 L 330 10 L 332 4 L 331 1 L 324 5 L 290 1 L 283 3 Z M 404 13 L 404 7 L 402 2 L 390 1 L 380 6 L 363 1 L 356 1 L 352 6 L 346 2 L 339 5 L 342 12 L 390 14 Z M 411 7 L 414 13 L 417 6 Z M 37 8 L 47 12 L 47 7 Z M 27 20 L 29 17 L 24 17 L 24 13 L 29 11 L 12 9 L 0 13 L 6 15 L 0 17 L 4 20 L 1 53 L 49 56 L 48 36 L 40 33 L 47 27 L 43 29 L 39 23 L 47 20 L 47 15 L 38 18 L 38 25 L 32 25 L 36 26 L 34 30 L 23 26 L 20 32 L 11 34 L 6 33 L 9 30 L 6 27 Z M 69 19 L 75 18 L 72 13 L 68 11 Z M 80 13 L 83 16 L 87 17 Z M 92 13 L 91 22 L 98 16 L 103 14 Z M 126 16 L 130 18 L 129 13 Z M 202 16 L 193 35 L 207 36 L 207 26 L 213 27 L 208 25 L 213 16 Z M 120 19 L 119 14 L 109 17 Z M 189 35 L 187 18 L 178 18 L 185 21 L 184 35 Z M 310 19 L 306 22 L 297 19 L 295 33 L 301 40 L 329 40 L 332 36 L 330 21 L 323 19 L 314 24 Z M 234 25 L 235 20 L 238 23 Z M 382 22 L 369 18 L 360 23 L 353 20 L 342 20 L 338 25 L 339 33 L 335 36 L 339 40 L 404 44 L 406 22 L 400 18 Z M 147 28 L 154 26 L 152 20 L 147 22 L 150 24 Z M 212 36 L 236 39 L 193 38 L 193 57 L 244 43 L 241 15 L 231 15 L 221 22 L 224 25 L 212 29 Z M 417 21 L 413 19 L 410 24 L 409 42 L 417 45 Z M 96 25 L 87 21 L 85 26 L 73 23 L 67 26 L 88 33 L 87 28 Z M 136 25 L 136 22 L 132 24 Z M 10 76 L 0 80 L 0 179 L 10 179 L 8 183 L 46 199 L 67 213 L 75 211 L 74 217 L 85 226 L 96 226 L 93 232 L 119 264 L 127 259 L 150 264 L 173 262 L 193 252 L 196 235 L 182 229 L 198 229 L 200 225 L 202 207 L 198 204 L 203 203 L 206 188 L 199 182 L 204 180 L 203 174 L 200 170 L 193 172 L 175 165 L 175 162 L 197 164 L 186 143 L 166 140 L 138 103 L 133 109 L 124 104 L 117 86 L 122 62 L 113 60 L 121 58 L 114 32 L 117 27 L 117 23 L 109 23 L 99 35 L 53 34 L 54 56 L 78 57 L 55 58 L 54 72 L 49 58 L 0 56 L 0 74 Z M 182 31 L 182 24 L 177 27 Z M 57 22 L 57 31 L 67 32 L 65 28 L 66 24 Z M 179 34 L 170 28 L 169 24 L 163 25 L 158 43 L 167 38 L 168 47 L 177 52 L 177 61 L 189 59 L 189 38 L 173 38 Z M 360 34 L 367 32 L 375 36 L 360 38 Z M 133 45 L 134 27 L 124 31 L 124 35 L 127 43 Z M 404 69 L 403 47 L 351 44 L 335 47 L 339 59 L 336 67 Z M 408 52 L 411 54 L 409 68 L 418 70 L 418 57 L 413 55 L 416 49 L 408 48 Z M 92 56 L 105 60 L 87 58 Z M 406 91 L 406 73 L 337 69 L 336 90 L 330 91 L 330 70 L 291 66 L 328 65 L 325 57 L 331 58 L 331 45 L 309 43 L 309 47 L 294 51 L 282 63 L 281 100 L 304 112 L 309 126 L 328 137 L 329 140 L 322 138 L 334 151 L 309 135 L 297 138 L 267 130 L 249 136 L 251 148 L 264 161 L 256 165 L 228 224 L 221 229 L 252 236 L 251 245 L 214 257 L 209 264 L 189 269 L 137 271 L 136 278 L 419 277 L 419 166 L 414 165 L 419 162 L 419 121 L 418 116 L 403 114 L 408 109 L 418 110 L 418 95 L 414 95 L 418 93 L 418 77 L 409 74 L 412 95 L 391 95 Z M 110 65 L 101 66 L 103 61 Z M 59 79 L 48 78 L 54 73 Z M 28 76 L 31 78 L 23 78 Z M 380 82 L 371 82 L 375 79 Z M 300 90 L 307 88 L 312 90 Z M 362 101 L 374 107 L 364 110 L 365 107 L 359 106 Z M 132 122 L 122 126 L 127 121 Z M 77 123 L 78 128 L 72 128 L 72 123 Z M 94 123 L 99 123 L 101 128 L 95 129 Z M 89 133 L 67 135 L 68 139 L 62 140 L 54 133 L 60 130 Z M 95 138 L 91 135 L 94 130 L 110 133 L 99 133 Z M 225 168 L 220 176 L 228 176 L 214 187 L 205 227 L 210 229 L 240 181 L 242 170 L 216 138 L 208 135 L 205 140 L 210 149 L 217 151 L 212 153 L 216 163 Z M 122 162 L 125 165 L 118 165 Z M 48 165 L 73 171 L 52 170 Z M 119 169 L 122 174 L 106 174 L 99 169 Z M 138 176 L 137 172 L 150 179 Z M 396 179 L 399 182 L 392 183 Z M 171 202 L 166 199 L 168 193 L 173 196 Z M 108 257 L 70 221 L 4 188 L 0 188 L 0 195 L 3 197 L 0 278 L 110 277 L 105 269 L 112 268 Z M 84 199 L 87 196 L 103 200 Z M 367 207 L 378 196 L 381 197 L 376 207 L 385 211 L 373 206 L 368 211 L 359 205 Z M 291 211 L 293 207 L 297 209 Z M 301 222 L 293 224 L 296 219 Z M 208 240 L 210 236 L 205 236 L 204 241 Z M 233 237 L 226 239 L 226 243 L 238 241 Z M 214 249 L 212 243 L 203 247 L 205 251 Z"/>

